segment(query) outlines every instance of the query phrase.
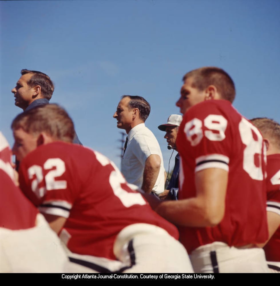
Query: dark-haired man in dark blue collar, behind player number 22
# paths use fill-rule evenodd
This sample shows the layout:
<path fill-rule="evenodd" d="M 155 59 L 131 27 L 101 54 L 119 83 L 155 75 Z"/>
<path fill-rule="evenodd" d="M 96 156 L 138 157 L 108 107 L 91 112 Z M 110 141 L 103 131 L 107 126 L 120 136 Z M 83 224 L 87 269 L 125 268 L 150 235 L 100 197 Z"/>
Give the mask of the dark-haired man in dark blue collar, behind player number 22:
<path fill-rule="evenodd" d="M 21 77 L 12 89 L 15 97 L 15 105 L 28 111 L 35 106 L 49 104 L 54 91 L 54 84 L 46 74 L 38 71 L 22 69 Z M 73 143 L 80 144 L 75 133 Z"/>

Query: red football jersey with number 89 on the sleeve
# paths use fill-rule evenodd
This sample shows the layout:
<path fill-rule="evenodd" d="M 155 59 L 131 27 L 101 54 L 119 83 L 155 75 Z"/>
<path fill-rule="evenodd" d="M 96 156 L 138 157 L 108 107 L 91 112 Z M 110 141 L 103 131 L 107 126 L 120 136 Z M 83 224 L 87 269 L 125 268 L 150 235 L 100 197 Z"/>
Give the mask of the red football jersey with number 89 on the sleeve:
<path fill-rule="evenodd" d="M 259 130 L 229 101 L 207 100 L 186 112 L 176 146 L 181 156 L 179 199 L 196 196 L 195 172 L 228 171 L 222 221 L 215 227 L 179 228 L 188 253 L 214 241 L 230 246 L 264 242 L 268 237 L 265 154 Z"/>

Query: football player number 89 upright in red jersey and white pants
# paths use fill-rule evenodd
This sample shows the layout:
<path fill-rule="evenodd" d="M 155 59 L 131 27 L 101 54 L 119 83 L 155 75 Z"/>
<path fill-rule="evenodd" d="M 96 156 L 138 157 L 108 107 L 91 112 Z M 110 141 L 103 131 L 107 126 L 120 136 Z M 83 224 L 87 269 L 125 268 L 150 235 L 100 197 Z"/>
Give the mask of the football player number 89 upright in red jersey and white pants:
<path fill-rule="evenodd" d="M 155 210 L 178 225 L 195 272 L 268 272 L 255 245 L 268 237 L 262 136 L 233 108 L 225 71 L 202 67 L 183 82 L 179 200 Z"/>

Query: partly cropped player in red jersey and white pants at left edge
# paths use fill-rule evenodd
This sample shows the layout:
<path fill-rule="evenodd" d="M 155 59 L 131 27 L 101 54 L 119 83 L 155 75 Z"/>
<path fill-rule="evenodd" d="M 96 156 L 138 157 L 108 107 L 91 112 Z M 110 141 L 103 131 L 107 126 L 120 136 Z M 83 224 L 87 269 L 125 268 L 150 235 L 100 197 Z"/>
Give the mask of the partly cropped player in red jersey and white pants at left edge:
<path fill-rule="evenodd" d="M 57 235 L 15 180 L 11 149 L 0 132 L 0 272 L 65 272 L 68 259 Z"/>

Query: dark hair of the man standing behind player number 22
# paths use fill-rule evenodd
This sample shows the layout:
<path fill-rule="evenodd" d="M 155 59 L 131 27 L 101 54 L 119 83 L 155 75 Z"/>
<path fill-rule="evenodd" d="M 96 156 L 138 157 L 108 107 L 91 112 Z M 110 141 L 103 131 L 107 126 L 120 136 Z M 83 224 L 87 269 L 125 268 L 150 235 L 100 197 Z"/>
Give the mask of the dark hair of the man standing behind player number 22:
<path fill-rule="evenodd" d="M 51 96 L 54 91 L 54 84 L 46 74 L 38 71 L 31 71 L 29 69 L 22 69 L 21 75 L 24 74 L 33 74 L 30 80 L 27 82 L 29 87 L 41 86 L 41 94 L 43 97 L 48 100 L 51 99 Z"/>

